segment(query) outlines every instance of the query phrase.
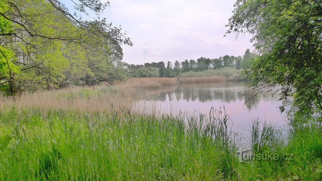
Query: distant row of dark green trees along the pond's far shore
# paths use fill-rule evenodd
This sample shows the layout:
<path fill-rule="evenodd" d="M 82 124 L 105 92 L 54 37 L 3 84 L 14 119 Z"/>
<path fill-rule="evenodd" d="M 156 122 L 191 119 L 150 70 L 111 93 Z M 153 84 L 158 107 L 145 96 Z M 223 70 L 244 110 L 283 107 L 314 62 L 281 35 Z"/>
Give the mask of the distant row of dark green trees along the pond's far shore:
<path fill-rule="evenodd" d="M 201 57 L 196 60 L 186 59 L 182 62 L 176 60 L 174 64 L 171 61 L 167 61 L 166 63 L 164 61 L 151 62 L 141 65 L 125 63 L 125 67 L 131 77 L 176 77 L 184 72 L 198 72 L 224 67 L 246 70 L 251 67 L 251 63 L 256 57 L 258 57 L 258 54 L 252 53 L 250 49 L 247 49 L 243 56 L 238 57 L 229 55 L 216 59 Z"/>

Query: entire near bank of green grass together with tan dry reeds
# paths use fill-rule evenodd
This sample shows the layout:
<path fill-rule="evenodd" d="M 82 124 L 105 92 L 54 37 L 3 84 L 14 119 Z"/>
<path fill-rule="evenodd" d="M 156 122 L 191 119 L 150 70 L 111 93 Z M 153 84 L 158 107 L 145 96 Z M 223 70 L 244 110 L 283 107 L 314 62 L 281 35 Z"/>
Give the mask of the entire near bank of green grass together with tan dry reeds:
<path fill-rule="evenodd" d="M 322 179 L 316 118 L 294 116 L 286 138 L 255 120 L 250 146 L 261 156 L 242 159 L 223 107 L 199 116 L 135 108 L 144 88 L 169 80 L 2 97 L 0 180 Z"/>

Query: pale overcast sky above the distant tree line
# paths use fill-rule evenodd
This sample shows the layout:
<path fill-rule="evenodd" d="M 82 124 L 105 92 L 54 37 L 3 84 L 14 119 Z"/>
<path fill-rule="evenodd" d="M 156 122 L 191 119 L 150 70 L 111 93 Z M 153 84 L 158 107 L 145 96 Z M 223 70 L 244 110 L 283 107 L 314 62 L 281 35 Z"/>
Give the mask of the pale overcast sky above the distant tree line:
<path fill-rule="evenodd" d="M 127 31 L 133 46 L 122 48 L 129 64 L 238 56 L 252 47 L 250 36 L 223 37 L 235 0 L 109 1 L 101 16 Z"/>

